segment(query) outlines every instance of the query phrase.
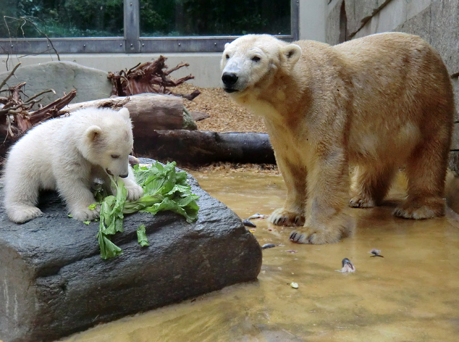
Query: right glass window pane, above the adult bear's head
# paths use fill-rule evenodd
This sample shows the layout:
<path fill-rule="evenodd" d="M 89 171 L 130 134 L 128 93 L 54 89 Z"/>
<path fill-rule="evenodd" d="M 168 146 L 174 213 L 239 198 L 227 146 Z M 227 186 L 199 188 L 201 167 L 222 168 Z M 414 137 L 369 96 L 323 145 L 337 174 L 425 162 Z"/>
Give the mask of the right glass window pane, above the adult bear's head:
<path fill-rule="evenodd" d="M 291 34 L 290 0 L 140 0 L 140 36 Z"/>

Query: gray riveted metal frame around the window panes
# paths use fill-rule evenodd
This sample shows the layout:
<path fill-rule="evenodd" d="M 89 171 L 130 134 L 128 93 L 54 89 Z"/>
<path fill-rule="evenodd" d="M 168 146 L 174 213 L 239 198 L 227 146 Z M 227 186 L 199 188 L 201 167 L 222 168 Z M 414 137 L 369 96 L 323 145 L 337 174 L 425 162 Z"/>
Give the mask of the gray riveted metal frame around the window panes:
<path fill-rule="evenodd" d="M 291 34 L 278 35 L 285 41 L 298 40 L 299 0 L 291 0 Z M 0 54 L 52 53 L 194 53 L 221 52 L 224 44 L 239 36 L 140 37 L 139 0 L 124 0 L 124 37 L 95 38 L 0 38 Z"/>

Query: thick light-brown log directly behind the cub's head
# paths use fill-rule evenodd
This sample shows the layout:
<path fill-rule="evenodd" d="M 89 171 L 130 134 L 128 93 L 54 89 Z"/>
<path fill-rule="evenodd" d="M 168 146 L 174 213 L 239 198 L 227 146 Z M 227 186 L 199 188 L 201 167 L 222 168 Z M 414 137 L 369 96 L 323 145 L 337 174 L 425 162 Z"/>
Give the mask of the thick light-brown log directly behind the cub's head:
<path fill-rule="evenodd" d="M 109 97 L 75 104 L 69 104 L 64 111 L 74 112 L 78 109 L 96 108 L 121 108 L 129 109 L 133 121 L 134 139 L 146 139 L 151 130 L 182 129 L 183 99 L 173 95 L 139 94 L 132 96 Z"/>

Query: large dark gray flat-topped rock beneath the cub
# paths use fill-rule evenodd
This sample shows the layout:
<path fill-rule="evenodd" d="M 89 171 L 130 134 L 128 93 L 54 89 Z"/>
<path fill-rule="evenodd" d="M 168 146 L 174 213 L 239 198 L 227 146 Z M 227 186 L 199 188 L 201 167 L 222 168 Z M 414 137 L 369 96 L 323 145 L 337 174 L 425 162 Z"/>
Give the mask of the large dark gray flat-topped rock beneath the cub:
<path fill-rule="evenodd" d="M 0 209 L 0 339 L 49 341 L 97 323 L 182 301 L 257 278 L 262 253 L 240 218 L 199 188 L 197 222 L 161 212 L 124 219 L 113 242 L 124 252 L 99 256 L 98 223 L 67 217 L 56 193 L 44 193 L 43 217 L 16 225 Z M 0 189 L 3 197 L 3 189 Z M 141 248 L 136 229 L 146 227 Z"/>

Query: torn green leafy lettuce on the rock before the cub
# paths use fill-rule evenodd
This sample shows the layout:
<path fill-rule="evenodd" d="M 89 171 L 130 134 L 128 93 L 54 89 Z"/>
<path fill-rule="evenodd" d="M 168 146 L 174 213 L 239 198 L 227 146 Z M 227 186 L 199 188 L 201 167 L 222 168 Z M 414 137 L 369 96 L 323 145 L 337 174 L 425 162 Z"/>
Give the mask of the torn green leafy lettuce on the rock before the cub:
<path fill-rule="evenodd" d="M 199 197 L 191 192 L 186 172 L 175 172 L 175 164 L 162 165 L 156 162 L 149 168 L 135 165 L 133 169 L 137 184 L 143 188 L 143 196 L 137 201 L 126 201 L 127 190 L 123 181 L 112 176 L 110 179 L 116 196 L 105 196 L 101 189 L 96 191 L 95 198 L 100 204 L 97 239 L 101 258 L 109 259 L 122 253 L 110 240 L 110 235 L 123 232 L 124 214 L 140 211 L 155 215 L 158 211 L 171 210 L 185 216 L 188 223 L 197 219 L 199 207 L 196 200 Z M 148 246 L 144 225 L 137 229 L 137 237 L 141 246 Z"/>

